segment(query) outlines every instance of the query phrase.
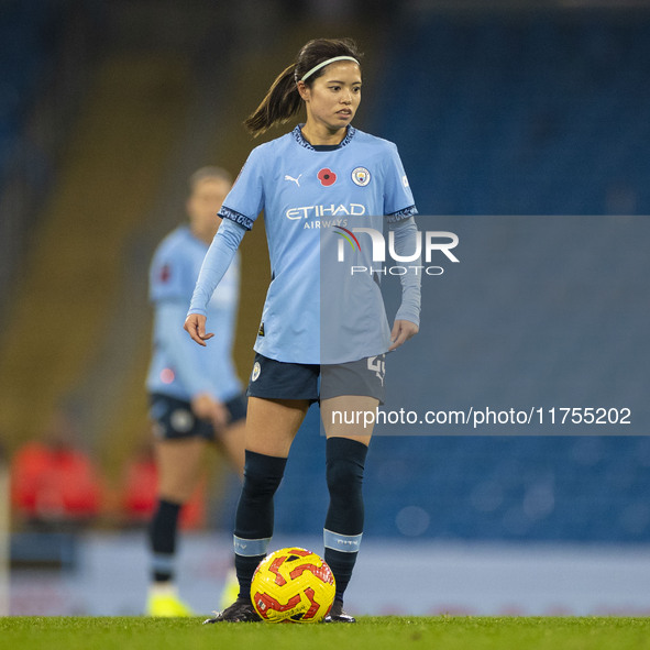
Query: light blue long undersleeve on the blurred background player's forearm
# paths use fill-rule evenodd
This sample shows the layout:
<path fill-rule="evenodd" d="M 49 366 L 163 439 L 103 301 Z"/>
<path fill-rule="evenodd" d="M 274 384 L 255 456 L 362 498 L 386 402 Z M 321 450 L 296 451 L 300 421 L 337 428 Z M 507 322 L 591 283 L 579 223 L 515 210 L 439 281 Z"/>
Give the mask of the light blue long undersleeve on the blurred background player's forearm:
<path fill-rule="evenodd" d="M 192 397 L 199 393 L 218 395 L 206 367 L 209 356 L 183 329 L 186 307 L 180 300 L 163 300 L 156 305 L 157 343 L 165 348 L 177 379 Z"/>

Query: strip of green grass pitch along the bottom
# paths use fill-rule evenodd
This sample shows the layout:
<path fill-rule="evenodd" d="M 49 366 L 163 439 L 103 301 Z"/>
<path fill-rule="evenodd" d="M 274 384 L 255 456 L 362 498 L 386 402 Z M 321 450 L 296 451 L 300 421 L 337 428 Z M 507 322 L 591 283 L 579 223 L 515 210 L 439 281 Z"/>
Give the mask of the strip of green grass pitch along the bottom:
<path fill-rule="evenodd" d="M 356 625 L 201 625 L 200 618 L 5 617 L 1 650 L 650 649 L 650 618 L 361 617 Z"/>

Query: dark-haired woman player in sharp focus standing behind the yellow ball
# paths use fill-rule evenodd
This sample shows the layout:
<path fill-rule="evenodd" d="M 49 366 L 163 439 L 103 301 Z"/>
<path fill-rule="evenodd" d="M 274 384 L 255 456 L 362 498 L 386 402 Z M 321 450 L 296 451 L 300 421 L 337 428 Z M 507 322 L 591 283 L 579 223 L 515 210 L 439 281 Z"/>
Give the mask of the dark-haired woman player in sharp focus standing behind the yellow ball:
<path fill-rule="evenodd" d="M 329 324 L 339 324 L 327 323 L 329 310 L 321 302 L 321 297 L 332 295 L 326 286 L 330 278 L 321 278 L 328 273 L 321 268 L 323 233 L 351 225 L 353 218 L 382 231 L 386 216 L 395 251 L 403 253 L 408 246 L 412 252 L 417 234 L 417 211 L 396 146 L 351 125 L 361 100 L 360 56 L 349 40 L 310 41 L 246 120 L 256 135 L 286 122 L 302 106 L 307 112 L 304 124 L 251 152 L 219 212 L 223 221 L 203 261 L 185 322 L 190 337 L 206 345 L 213 334 L 206 333 L 205 305 L 242 236 L 264 210 L 273 279 L 249 384 L 244 484 L 234 528 L 240 594 L 209 623 L 258 620 L 250 597 L 252 575 L 273 533 L 273 496 L 291 441 L 316 400 L 327 436 L 330 493 L 324 558 L 337 581 L 337 597 L 326 620 L 354 623 L 343 612 L 343 594 L 361 543 L 362 478 L 372 427 L 333 421 L 331 415 L 350 408 L 374 411 L 383 401 L 384 353 L 417 333 L 420 307 L 419 276 L 404 276 L 393 331 L 382 306 L 378 316 L 372 312 L 368 318 L 364 312 L 365 319 L 362 313 L 346 322 L 349 335 L 340 345 L 324 346 L 323 353 L 321 333 Z M 376 284 L 372 276 L 364 277 L 359 286 L 371 295 Z M 348 304 L 354 302 L 354 297 L 348 298 Z M 334 299 L 331 307 L 338 304 Z"/>

